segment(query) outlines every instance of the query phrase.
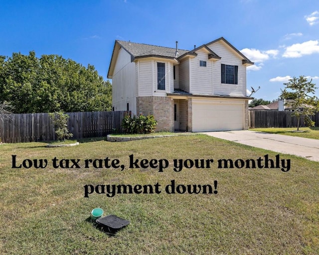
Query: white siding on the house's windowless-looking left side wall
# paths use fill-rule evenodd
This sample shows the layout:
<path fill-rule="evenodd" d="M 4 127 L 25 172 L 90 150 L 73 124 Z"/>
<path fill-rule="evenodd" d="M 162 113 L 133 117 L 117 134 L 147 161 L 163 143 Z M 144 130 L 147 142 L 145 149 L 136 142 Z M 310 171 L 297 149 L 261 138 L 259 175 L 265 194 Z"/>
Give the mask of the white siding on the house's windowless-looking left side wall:
<path fill-rule="evenodd" d="M 129 110 L 136 114 L 136 66 L 131 56 L 120 49 L 112 77 L 112 105 L 115 111 Z"/>

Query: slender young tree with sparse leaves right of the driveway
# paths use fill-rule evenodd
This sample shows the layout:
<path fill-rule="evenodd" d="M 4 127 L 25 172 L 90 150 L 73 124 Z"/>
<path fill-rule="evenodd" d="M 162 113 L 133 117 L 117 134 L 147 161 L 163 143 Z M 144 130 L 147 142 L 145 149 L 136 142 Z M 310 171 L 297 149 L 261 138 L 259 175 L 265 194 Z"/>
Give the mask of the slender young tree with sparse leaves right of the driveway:
<path fill-rule="evenodd" d="M 281 90 L 281 98 L 291 99 L 285 105 L 291 107 L 294 111 L 293 116 L 297 117 L 297 130 L 299 130 L 302 116 L 305 117 L 306 126 L 314 126 L 315 122 L 310 119 L 310 116 L 319 111 L 319 100 L 314 95 L 317 89 L 316 84 L 312 83 L 312 79 L 308 81 L 305 76 L 300 76 L 290 79 L 284 85 L 286 87 Z"/>

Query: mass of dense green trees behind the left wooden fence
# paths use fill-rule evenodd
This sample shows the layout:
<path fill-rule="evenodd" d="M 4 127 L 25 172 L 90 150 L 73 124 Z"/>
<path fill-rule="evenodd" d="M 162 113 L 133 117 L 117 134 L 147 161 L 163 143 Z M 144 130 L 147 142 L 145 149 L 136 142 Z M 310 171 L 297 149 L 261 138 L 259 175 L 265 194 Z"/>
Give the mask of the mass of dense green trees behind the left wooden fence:
<path fill-rule="evenodd" d="M 0 56 L 0 102 L 14 113 L 110 111 L 112 85 L 94 66 L 58 55 Z"/>

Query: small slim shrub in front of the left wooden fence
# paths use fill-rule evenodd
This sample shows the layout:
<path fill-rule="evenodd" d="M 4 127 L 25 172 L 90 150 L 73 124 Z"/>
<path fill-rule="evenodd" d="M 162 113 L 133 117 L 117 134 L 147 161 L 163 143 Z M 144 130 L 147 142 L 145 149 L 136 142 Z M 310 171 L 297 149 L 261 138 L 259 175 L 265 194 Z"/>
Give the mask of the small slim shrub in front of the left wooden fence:
<path fill-rule="evenodd" d="M 73 136 L 72 133 L 69 132 L 67 128 L 67 120 L 69 116 L 64 114 L 63 112 L 49 113 L 49 116 L 53 122 L 56 138 L 58 140 L 68 139 Z"/>

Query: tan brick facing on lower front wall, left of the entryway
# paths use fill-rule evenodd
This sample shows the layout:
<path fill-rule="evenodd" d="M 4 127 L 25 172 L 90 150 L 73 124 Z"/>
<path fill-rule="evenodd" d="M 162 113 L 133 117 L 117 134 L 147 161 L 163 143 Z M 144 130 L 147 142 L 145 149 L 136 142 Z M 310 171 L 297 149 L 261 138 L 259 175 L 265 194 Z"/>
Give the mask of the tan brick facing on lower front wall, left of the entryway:
<path fill-rule="evenodd" d="M 174 101 L 168 97 L 137 97 L 137 114 L 154 115 L 156 131 L 174 131 Z"/>

